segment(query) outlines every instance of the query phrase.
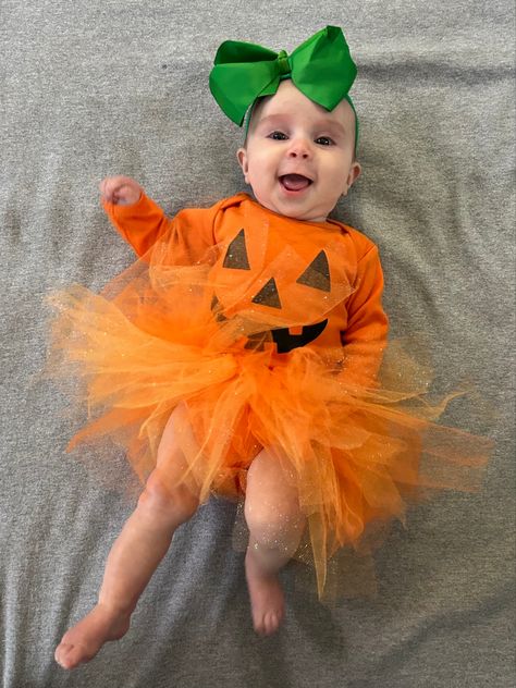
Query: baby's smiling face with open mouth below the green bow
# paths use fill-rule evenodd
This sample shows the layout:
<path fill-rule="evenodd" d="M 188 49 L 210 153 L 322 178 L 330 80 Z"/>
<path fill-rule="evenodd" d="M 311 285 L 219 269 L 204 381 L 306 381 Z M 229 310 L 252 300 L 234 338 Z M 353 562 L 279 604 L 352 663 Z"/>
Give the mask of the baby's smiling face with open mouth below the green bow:
<path fill-rule="evenodd" d="M 255 109 L 247 146 L 237 158 L 259 204 L 321 222 L 360 173 L 354 147 L 349 103 L 342 100 L 328 112 L 287 79 Z"/>

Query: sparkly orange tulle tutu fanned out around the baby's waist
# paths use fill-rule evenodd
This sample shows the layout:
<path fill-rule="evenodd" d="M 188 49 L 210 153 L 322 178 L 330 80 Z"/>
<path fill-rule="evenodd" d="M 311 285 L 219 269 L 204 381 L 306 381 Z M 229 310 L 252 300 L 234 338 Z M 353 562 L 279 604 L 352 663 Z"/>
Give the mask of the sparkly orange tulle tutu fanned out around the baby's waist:
<path fill-rule="evenodd" d="M 320 594 L 328 560 L 359 549 L 370 526 L 403 520 L 429 491 L 479 487 L 491 442 L 435 423 L 446 400 L 426 401 L 428 371 L 401 349 L 388 347 L 378 384 L 360 388 L 342 374 L 345 348 L 278 354 L 271 330 L 299 322 L 228 317 L 218 286 L 209 261 L 139 260 L 100 295 L 73 286 L 51 297 L 53 371 L 82 380 L 91 417 L 71 446 L 114 440 L 145 481 L 183 403 L 198 444 L 182 450 L 201 500 L 242 495 L 254 456 L 273 447 L 307 516 Z"/>

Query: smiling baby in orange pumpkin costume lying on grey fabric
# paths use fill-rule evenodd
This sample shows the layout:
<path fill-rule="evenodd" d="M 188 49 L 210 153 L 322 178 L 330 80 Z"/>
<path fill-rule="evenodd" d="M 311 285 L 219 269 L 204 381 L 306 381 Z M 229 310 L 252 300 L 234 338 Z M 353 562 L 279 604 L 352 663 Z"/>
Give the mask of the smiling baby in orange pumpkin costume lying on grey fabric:
<path fill-rule="evenodd" d="M 360 174 L 347 96 L 354 64 L 340 29 L 310 41 L 315 90 L 325 78 L 339 85 L 340 74 L 347 86 L 320 105 L 303 93 L 295 53 L 260 49 L 281 78 L 253 101 L 237 151 L 254 198 L 238 194 L 169 220 L 134 180 L 100 185 L 106 211 L 140 260 L 114 296 L 75 293 L 61 305 L 85 336 L 70 359 L 96 381 L 88 400 L 111 408 L 89 435 L 126 423 L 139 442 L 126 445 L 130 460 L 153 458 L 140 471 L 145 489 L 109 554 L 98 603 L 56 650 L 64 668 L 127 631 L 176 528 L 210 492 L 245 496 L 253 625 L 270 635 L 284 616 L 279 572 L 305 528 L 321 592 L 327 558 L 359 541 L 368 523 L 402 517 L 404 486 L 417 484 L 414 418 L 393 414 L 397 397 L 374 396 L 388 330 L 377 248 L 328 218 Z M 238 69 L 248 44 L 239 58 L 235 46 L 228 62 Z M 318 63 L 325 50 L 328 69 Z"/>

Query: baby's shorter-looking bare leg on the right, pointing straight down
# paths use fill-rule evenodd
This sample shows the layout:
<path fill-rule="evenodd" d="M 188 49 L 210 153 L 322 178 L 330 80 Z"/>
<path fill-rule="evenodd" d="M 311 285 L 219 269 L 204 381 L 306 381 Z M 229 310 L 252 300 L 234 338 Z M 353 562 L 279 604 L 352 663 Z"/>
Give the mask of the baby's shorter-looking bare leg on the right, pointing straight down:
<path fill-rule="evenodd" d="M 245 517 L 249 545 L 245 566 L 253 624 L 260 635 L 273 634 L 284 614 L 278 572 L 299 544 L 305 517 L 297 492 L 287 482 L 279 459 L 263 450 L 247 476 Z"/>

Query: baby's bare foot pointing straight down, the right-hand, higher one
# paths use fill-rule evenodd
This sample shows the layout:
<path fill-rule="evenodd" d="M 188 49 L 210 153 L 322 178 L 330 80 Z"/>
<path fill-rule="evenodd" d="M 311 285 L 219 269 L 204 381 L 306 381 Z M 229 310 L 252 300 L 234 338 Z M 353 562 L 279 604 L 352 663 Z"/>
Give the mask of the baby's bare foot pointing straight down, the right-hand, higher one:
<path fill-rule="evenodd" d="M 245 557 L 253 625 L 260 636 L 275 632 L 283 621 L 284 598 L 277 574 L 265 574 L 251 553 Z"/>

